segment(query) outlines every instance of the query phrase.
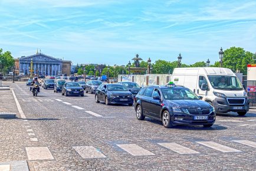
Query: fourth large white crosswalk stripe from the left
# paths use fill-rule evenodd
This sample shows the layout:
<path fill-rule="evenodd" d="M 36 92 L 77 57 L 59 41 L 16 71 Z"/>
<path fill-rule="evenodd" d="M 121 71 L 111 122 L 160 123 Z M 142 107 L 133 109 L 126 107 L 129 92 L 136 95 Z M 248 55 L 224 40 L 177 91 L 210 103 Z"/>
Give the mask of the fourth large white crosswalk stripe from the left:
<path fill-rule="evenodd" d="M 196 152 L 195 150 L 189 149 L 187 147 L 181 146 L 177 143 L 157 143 L 160 146 L 166 147 L 170 150 L 173 150 L 174 152 L 177 152 L 179 154 L 199 154 L 199 152 Z"/>

